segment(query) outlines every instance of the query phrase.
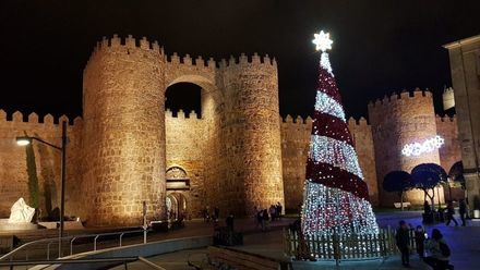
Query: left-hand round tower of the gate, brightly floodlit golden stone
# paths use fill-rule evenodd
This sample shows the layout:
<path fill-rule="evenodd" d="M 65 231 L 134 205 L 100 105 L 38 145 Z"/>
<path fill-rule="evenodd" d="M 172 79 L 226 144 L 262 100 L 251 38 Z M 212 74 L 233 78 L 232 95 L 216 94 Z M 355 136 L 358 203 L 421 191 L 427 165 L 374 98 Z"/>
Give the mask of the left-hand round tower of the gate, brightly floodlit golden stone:
<path fill-rule="evenodd" d="M 104 39 L 83 81 L 83 188 L 88 222 L 165 217 L 165 54 L 131 36 Z"/>

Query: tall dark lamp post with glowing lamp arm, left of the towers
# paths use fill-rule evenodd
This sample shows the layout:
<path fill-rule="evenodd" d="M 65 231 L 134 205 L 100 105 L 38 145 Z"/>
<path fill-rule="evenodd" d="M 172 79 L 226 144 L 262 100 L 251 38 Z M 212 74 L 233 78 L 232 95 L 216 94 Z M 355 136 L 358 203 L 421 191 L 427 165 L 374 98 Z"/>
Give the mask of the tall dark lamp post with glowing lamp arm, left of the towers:
<path fill-rule="evenodd" d="M 61 146 L 57 146 L 50 144 L 48 142 L 43 140 L 38 137 L 31 136 L 22 136 L 16 137 L 16 144 L 20 146 L 27 146 L 32 144 L 33 140 L 40 142 L 45 145 L 53 147 L 57 150 L 61 151 L 62 160 L 61 160 L 61 195 L 60 195 L 60 230 L 58 234 L 58 256 L 62 257 L 62 237 L 63 237 L 63 229 L 64 229 L 64 213 L 65 213 L 65 179 L 67 179 L 67 121 L 62 121 L 62 143 Z"/>

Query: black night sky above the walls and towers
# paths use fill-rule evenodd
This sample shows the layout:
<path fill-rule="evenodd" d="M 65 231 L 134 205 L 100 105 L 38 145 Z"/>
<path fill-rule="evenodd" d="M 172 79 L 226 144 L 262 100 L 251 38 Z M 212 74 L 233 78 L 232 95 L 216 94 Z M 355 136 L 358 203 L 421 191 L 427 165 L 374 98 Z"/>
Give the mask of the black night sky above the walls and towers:
<path fill-rule="evenodd" d="M 158 40 L 168 53 L 275 56 L 281 114 L 313 109 L 319 54 L 331 32 L 331 61 L 349 115 L 370 99 L 415 87 L 440 96 L 452 85 L 441 46 L 480 34 L 480 1 L 380 0 L 2 0 L 0 108 L 82 113 L 82 71 L 101 36 Z"/>

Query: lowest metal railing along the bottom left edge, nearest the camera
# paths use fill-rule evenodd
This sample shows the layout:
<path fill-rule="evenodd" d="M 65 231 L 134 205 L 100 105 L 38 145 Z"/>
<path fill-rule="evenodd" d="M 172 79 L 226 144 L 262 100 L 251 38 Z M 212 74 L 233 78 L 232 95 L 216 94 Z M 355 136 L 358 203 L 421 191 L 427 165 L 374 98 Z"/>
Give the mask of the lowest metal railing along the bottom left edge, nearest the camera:
<path fill-rule="evenodd" d="M 116 263 L 116 262 L 122 262 L 128 269 L 128 263 L 133 261 L 140 261 L 144 265 L 147 265 L 148 267 L 157 270 L 166 270 L 165 268 L 155 265 L 154 262 L 145 259 L 144 257 L 116 257 L 116 258 L 96 258 L 96 259 L 60 259 L 60 260 L 29 260 L 29 261 L 8 261 L 8 262 L 0 262 L 0 267 L 10 267 L 10 269 L 13 269 L 14 267 L 19 266 L 38 266 L 38 265 L 69 265 L 69 263 Z"/>

